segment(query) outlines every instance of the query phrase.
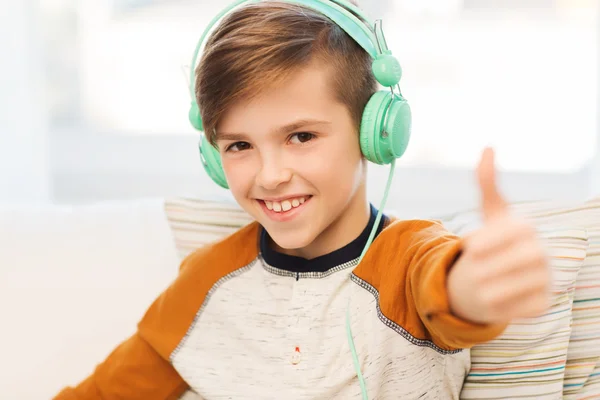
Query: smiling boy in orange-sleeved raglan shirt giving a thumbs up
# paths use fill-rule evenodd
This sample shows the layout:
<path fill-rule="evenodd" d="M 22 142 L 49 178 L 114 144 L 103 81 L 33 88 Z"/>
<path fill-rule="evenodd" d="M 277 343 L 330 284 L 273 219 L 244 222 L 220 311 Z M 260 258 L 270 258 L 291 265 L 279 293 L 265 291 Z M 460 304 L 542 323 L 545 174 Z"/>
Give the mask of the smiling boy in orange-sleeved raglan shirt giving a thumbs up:
<path fill-rule="evenodd" d="M 137 333 L 57 399 L 456 399 L 468 349 L 546 309 L 546 258 L 497 192 L 491 150 L 475 234 L 376 224 L 358 138 L 372 62 L 311 7 L 254 2 L 223 19 L 196 95 L 256 222 L 187 257 Z"/>

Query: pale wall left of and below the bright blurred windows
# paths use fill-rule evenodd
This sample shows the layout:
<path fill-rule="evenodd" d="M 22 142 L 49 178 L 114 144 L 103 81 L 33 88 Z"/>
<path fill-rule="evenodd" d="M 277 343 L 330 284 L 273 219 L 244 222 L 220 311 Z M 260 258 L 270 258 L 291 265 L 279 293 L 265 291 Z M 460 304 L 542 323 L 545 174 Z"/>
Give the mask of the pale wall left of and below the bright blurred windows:
<path fill-rule="evenodd" d="M 193 136 L 49 134 L 40 84 L 42 52 L 35 31 L 37 2 L 4 0 L 0 4 L 0 54 L 12 55 L 0 63 L 0 202 L 228 196 L 201 169 Z M 598 138 L 589 169 L 564 175 L 502 173 L 500 182 L 507 197 L 522 201 L 599 195 L 600 129 Z M 400 215 L 426 216 L 477 204 L 471 170 L 408 168 L 402 162 L 399 167 L 388 207 Z M 386 177 L 387 169 L 371 168 L 375 204 Z"/>

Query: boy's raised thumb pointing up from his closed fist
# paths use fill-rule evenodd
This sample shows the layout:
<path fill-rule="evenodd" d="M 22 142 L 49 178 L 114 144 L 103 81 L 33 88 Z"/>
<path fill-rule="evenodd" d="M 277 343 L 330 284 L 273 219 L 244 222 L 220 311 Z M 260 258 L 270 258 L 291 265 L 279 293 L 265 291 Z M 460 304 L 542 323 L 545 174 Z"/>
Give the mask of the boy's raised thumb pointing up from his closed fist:
<path fill-rule="evenodd" d="M 483 219 L 487 220 L 507 212 L 508 205 L 498 191 L 496 184 L 494 150 L 490 147 L 483 151 L 481 161 L 477 167 L 477 178 L 481 193 Z"/>

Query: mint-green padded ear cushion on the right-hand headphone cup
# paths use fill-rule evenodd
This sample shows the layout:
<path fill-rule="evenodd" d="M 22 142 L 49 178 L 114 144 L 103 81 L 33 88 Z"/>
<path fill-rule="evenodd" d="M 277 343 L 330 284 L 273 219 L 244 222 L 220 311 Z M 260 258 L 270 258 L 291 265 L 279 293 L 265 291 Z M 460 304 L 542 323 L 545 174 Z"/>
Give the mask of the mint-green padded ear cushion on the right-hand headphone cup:
<path fill-rule="evenodd" d="M 381 146 L 385 138 L 381 137 L 385 112 L 392 101 L 389 91 L 381 90 L 375 93 L 365 106 L 360 124 L 360 149 L 365 158 L 375 164 L 388 164 L 393 157 L 386 157 L 385 149 Z"/>

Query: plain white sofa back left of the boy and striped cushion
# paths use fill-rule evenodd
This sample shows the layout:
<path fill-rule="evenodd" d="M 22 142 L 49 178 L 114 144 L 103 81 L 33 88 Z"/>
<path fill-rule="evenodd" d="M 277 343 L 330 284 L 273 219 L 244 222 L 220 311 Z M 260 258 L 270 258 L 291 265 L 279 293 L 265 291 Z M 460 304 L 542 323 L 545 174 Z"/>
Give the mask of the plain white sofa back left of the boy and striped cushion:
<path fill-rule="evenodd" d="M 92 373 L 177 276 L 164 199 L 0 209 L 0 398 Z"/>

